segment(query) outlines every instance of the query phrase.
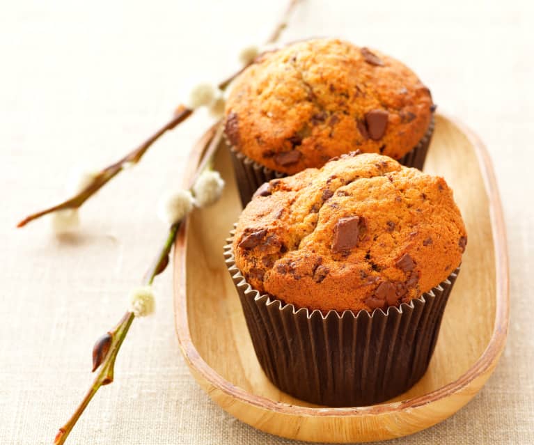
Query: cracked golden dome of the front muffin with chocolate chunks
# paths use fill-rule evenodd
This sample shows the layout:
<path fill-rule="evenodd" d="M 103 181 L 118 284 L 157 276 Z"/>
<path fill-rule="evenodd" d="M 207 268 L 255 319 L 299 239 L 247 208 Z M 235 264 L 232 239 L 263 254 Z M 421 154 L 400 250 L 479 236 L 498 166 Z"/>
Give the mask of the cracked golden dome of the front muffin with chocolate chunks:
<path fill-rule="evenodd" d="M 321 311 L 386 309 L 460 265 L 466 230 L 443 178 L 376 154 L 266 183 L 243 210 L 235 264 L 260 294 Z"/>

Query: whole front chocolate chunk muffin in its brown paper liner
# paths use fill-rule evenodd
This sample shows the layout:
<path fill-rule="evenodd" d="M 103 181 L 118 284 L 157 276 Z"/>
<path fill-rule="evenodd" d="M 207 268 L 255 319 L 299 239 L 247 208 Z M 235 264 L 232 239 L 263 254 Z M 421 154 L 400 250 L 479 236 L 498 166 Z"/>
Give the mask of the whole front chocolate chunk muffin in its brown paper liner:
<path fill-rule="evenodd" d="M 226 257 L 267 377 L 320 405 L 407 391 L 466 240 L 445 180 L 386 156 L 350 153 L 260 187 Z"/>

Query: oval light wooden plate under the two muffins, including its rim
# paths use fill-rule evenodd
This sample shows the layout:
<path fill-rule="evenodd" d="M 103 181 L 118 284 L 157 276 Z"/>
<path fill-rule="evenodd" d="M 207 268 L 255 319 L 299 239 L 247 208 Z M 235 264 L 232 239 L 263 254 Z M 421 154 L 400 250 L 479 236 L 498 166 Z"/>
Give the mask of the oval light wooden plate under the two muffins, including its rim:
<path fill-rule="evenodd" d="M 189 179 L 209 136 L 191 155 Z M 221 200 L 193 212 L 176 240 L 175 322 L 191 373 L 223 409 L 255 428 L 291 439 L 368 442 L 443 421 L 482 388 L 508 331 L 508 257 L 494 173 L 476 136 L 436 116 L 425 171 L 442 175 L 453 187 L 469 244 L 427 373 L 402 396 L 370 407 L 311 405 L 282 393 L 265 377 L 223 259 L 224 240 L 241 211 L 224 146 L 217 150 L 215 168 L 226 180 Z"/>

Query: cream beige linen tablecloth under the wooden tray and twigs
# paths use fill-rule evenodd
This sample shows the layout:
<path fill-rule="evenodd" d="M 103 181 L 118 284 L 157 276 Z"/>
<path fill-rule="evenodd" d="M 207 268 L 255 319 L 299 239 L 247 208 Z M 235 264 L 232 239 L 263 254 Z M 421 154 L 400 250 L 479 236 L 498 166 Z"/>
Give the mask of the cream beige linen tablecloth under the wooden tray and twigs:
<path fill-rule="evenodd" d="M 534 63 L 529 1 L 305 1 L 283 40 L 342 36 L 405 61 L 442 111 L 487 143 L 508 225 L 508 345 L 476 398 L 394 444 L 534 443 Z M 18 1 L 0 14 L 0 444 L 49 444 L 92 380 L 91 348 L 126 306 L 164 236 L 157 197 L 178 185 L 200 113 L 81 212 L 79 234 L 15 222 L 63 196 L 73 166 L 103 166 L 164 122 L 191 79 L 235 68 L 284 1 Z M 236 421 L 178 351 L 171 274 L 134 322 L 116 382 L 70 444 L 290 444 Z M 469 298 L 469 295 L 466 295 Z"/>

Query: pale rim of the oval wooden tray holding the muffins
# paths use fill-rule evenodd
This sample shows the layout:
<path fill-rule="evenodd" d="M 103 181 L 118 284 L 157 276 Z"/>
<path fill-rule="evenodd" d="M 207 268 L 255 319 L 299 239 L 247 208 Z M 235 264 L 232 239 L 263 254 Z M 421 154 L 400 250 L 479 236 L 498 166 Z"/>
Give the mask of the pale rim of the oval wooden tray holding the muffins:
<path fill-rule="evenodd" d="M 224 377 L 219 375 L 217 371 L 212 369 L 201 357 L 195 348 L 189 333 L 189 323 L 187 320 L 187 295 L 186 295 L 186 255 L 187 255 L 187 233 L 189 226 L 189 219 L 184 221 L 180 227 L 180 231 L 176 237 L 174 249 L 174 267 L 173 267 L 173 281 L 174 281 L 174 309 L 175 309 L 175 329 L 178 335 L 180 350 L 182 355 L 191 369 L 194 377 L 201 386 L 210 384 L 212 387 L 219 389 L 231 398 L 237 398 L 242 403 L 253 405 L 260 409 L 267 409 L 268 411 L 278 412 L 291 416 L 317 416 L 317 417 L 359 417 L 359 416 L 375 416 L 384 414 L 395 414 L 405 409 L 414 409 L 423 407 L 431 403 L 437 403 L 445 398 L 450 398 L 455 394 L 460 395 L 464 390 L 473 384 L 479 377 L 484 377 L 477 387 L 457 409 L 454 409 L 449 415 L 456 412 L 460 407 L 464 406 L 471 398 L 485 384 L 489 375 L 493 372 L 498 359 L 505 347 L 506 337 L 508 335 L 508 323 L 510 317 L 510 295 L 509 295 L 509 263 L 508 263 L 508 249 L 505 233 L 505 224 L 503 217 L 503 210 L 501 205 L 501 198 L 498 194 L 498 187 L 496 177 L 492 166 L 492 161 L 485 148 L 484 143 L 480 138 L 472 132 L 466 125 L 461 123 L 457 118 L 451 118 L 447 114 L 438 113 L 437 120 L 448 120 L 449 123 L 455 125 L 473 146 L 478 164 L 480 166 L 480 173 L 485 185 L 485 192 L 489 201 L 489 215 L 492 225 L 492 237 L 495 249 L 495 279 L 496 279 L 496 307 L 494 328 L 492 336 L 489 338 L 489 343 L 484 352 L 480 354 L 477 361 L 466 370 L 464 374 L 458 377 L 453 382 L 446 384 L 439 389 L 435 389 L 430 393 L 422 396 L 416 396 L 407 400 L 392 403 L 382 403 L 379 405 L 370 405 L 368 407 L 303 407 L 290 405 L 288 403 L 276 402 L 269 398 L 256 396 L 248 391 L 236 387 L 234 384 L 228 382 Z M 214 130 L 208 130 L 202 138 L 198 141 L 194 150 L 191 151 L 191 156 L 184 173 L 184 180 L 187 181 L 194 177 L 194 172 L 199 164 L 199 160 L 203 155 L 207 141 L 213 134 Z M 222 254 L 221 254 L 222 255 Z M 204 382 L 199 380 L 202 378 Z M 210 396 L 213 389 L 210 389 L 208 394 Z M 446 416 L 448 417 L 448 416 Z M 443 419 L 445 419 L 444 417 Z M 431 425 L 429 425 L 431 426 Z M 423 429 L 423 428 L 420 428 Z"/>

